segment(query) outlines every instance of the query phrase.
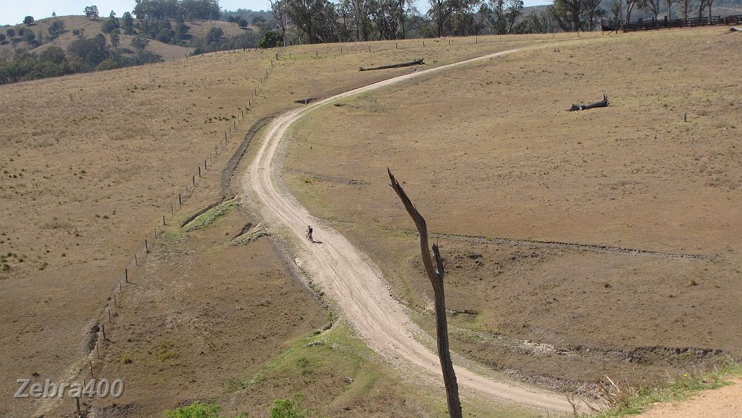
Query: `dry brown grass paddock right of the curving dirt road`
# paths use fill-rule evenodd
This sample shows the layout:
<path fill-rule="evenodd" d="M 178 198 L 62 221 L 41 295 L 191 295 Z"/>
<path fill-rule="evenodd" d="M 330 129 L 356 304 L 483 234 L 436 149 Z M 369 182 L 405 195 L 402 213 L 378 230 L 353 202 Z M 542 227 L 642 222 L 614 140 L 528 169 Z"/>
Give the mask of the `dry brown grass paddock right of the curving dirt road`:
<path fill-rule="evenodd" d="M 434 332 L 390 167 L 441 246 L 453 350 L 491 368 L 589 391 L 738 359 L 739 42 L 606 34 L 345 99 L 295 127 L 284 180 Z"/>

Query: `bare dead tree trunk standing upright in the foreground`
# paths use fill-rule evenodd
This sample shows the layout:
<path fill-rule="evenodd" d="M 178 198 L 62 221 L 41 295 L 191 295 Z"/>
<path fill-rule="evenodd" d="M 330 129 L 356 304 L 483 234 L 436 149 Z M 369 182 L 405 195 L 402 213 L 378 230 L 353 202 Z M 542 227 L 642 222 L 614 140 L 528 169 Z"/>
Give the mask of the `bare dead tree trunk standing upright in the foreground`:
<path fill-rule="evenodd" d="M 443 258 L 439 252 L 438 246 L 433 244 L 433 255 L 436 257 L 436 267 L 433 267 L 433 259 L 430 258 L 430 250 L 427 244 L 427 225 L 420 212 L 415 209 L 410 197 L 404 193 L 402 186 L 394 178 L 392 172 L 387 169 L 392 189 L 397 193 L 399 199 L 404 204 L 404 209 L 415 221 L 418 234 L 420 235 L 420 252 L 422 255 L 422 264 L 430 278 L 430 284 L 433 284 L 433 297 L 436 304 L 436 336 L 438 337 L 438 357 L 441 361 L 441 370 L 443 370 L 443 382 L 446 386 L 446 399 L 448 403 L 448 414 L 451 418 L 462 418 L 462 405 L 459 400 L 459 384 L 456 383 L 456 371 L 453 370 L 451 362 L 451 353 L 448 349 L 448 324 L 446 321 L 446 299 L 443 292 Z"/>

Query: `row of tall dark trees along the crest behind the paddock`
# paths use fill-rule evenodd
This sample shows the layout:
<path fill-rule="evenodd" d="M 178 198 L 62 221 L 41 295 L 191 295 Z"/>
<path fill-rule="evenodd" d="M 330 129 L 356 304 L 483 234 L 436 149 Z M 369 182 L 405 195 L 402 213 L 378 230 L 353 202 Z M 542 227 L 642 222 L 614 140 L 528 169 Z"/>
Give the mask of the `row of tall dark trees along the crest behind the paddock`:
<path fill-rule="evenodd" d="M 414 0 L 269 1 L 283 39 L 323 43 L 596 30 L 601 19 L 620 22 L 632 11 L 644 19 L 711 16 L 713 0 L 554 0 L 529 9 L 522 0 L 427 0 L 425 13 Z M 717 3 L 742 6 L 742 0 Z"/>

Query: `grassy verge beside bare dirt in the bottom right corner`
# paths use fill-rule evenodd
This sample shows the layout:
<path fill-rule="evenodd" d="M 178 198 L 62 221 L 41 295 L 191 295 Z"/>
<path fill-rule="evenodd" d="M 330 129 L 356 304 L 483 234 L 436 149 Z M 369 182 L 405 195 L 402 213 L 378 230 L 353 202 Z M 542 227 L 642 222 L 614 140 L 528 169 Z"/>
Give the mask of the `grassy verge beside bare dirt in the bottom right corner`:
<path fill-rule="evenodd" d="M 610 385 L 604 391 L 608 409 L 589 417 L 614 418 L 641 414 L 657 402 L 679 402 L 699 391 L 729 385 L 729 376 L 742 376 L 742 364 L 729 361 L 712 371 L 687 371 L 663 385 L 638 388 Z"/>

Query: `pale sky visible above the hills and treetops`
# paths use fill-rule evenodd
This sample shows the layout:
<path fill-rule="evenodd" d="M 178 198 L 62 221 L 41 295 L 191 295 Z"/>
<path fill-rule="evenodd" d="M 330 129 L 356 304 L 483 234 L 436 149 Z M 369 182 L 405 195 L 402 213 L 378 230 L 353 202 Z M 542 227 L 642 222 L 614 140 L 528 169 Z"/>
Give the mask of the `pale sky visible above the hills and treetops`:
<path fill-rule="evenodd" d="M 547 4 L 545 0 L 524 0 L 525 6 L 536 4 Z M 418 10 L 427 10 L 426 0 L 416 1 Z M 82 15 L 85 6 L 95 4 L 98 6 L 100 16 L 108 16 L 111 10 L 116 16 L 134 9 L 134 0 L 0 0 L 0 25 L 18 25 L 23 22 L 25 16 L 33 16 L 34 19 L 45 19 L 51 17 L 52 12 L 57 16 Z M 222 9 L 268 9 L 268 0 L 220 0 Z"/>

